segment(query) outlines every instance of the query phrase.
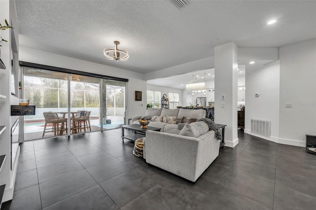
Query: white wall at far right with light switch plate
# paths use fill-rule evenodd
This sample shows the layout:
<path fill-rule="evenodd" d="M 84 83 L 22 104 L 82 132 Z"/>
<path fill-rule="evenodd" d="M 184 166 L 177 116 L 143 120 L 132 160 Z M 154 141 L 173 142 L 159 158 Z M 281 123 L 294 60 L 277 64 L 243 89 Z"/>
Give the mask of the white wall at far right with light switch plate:
<path fill-rule="evenodd" d="M 279 142 L 305 146 L 316 135 L 316 39 L 280 47 L 279 59 Z"/>

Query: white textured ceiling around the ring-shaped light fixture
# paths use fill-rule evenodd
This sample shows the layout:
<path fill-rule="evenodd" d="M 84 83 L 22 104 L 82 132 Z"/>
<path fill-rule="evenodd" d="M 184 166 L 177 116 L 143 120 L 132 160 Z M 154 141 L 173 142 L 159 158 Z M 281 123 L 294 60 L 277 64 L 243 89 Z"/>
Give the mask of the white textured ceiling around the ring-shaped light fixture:
<path fill-rule="evenodd" d="M 280 47 L 316 38 L 316 1 L 16 0 L 20 45 L 142 73 L 214 55 L 214 47 Z M 277 23 L 267 26 L 266 22 Z M 129 52 L 111 61 L 104 48 Z"/>

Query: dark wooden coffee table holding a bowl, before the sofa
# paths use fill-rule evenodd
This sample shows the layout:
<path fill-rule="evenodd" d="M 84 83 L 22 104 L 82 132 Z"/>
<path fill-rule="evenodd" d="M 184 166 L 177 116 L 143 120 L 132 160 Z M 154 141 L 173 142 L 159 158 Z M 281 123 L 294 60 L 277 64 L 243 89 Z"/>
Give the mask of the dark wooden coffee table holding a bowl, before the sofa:
<path fill-rule="evenodd" d="M 131 125 L 122 125 L 121 129 L 122 129 L 122 141 L 124 142 L 124 139 L 127 140 L 138 140 L 140 138 L 144 138 L 146 136 L 146 131 L 160 131 L 161 128 L 155 128 L 155 127 L 151 127 L 151 126 L 147 126 L 146 129 L 142 129 L 141 125 L 138 124 L 131 124 Z M 133 131 L 133 134 L 127 134 L 124 135 L 124 129 L 128 130 L 128 131 Z"/>

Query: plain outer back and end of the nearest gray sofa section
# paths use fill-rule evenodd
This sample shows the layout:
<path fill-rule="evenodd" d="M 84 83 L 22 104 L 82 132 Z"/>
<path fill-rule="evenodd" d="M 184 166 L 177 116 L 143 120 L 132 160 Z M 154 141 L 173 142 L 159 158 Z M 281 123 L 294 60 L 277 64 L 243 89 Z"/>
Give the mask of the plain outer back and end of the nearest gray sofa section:
<path fill-rule="evenodd" d="M 146 162 L 190 181 L 197 178 L 218 156 L 219 141 L 214 132 L 207 132 L 202 138 L 186 137 L 156 131 L 146 132 Z M 218 146 L 213 143 L 217 143 Z M 211 154 L 215 146 L 217 153 Z"/>

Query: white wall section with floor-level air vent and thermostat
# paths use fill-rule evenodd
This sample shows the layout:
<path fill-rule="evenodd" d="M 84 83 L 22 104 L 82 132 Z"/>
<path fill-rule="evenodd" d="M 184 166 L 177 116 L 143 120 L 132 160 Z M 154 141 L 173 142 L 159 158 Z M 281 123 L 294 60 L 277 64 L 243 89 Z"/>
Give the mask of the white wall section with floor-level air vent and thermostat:
<path fill-rule="evenodd" d="M 278 141 L 279 130 L 279 69 L 279 61 L 258 67 L 248 65 L 245 74 L 244 132 L 250 134 L 251 118 L 271 120 L 270 140 L 275 142 Z M 259 93 L 258 98 L 256 93 Z"/>

